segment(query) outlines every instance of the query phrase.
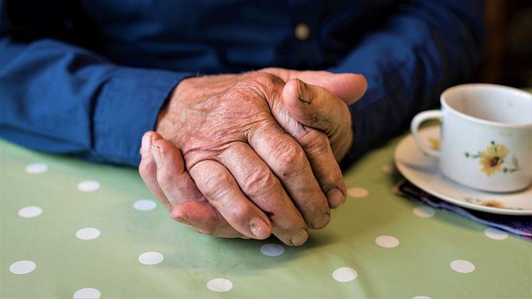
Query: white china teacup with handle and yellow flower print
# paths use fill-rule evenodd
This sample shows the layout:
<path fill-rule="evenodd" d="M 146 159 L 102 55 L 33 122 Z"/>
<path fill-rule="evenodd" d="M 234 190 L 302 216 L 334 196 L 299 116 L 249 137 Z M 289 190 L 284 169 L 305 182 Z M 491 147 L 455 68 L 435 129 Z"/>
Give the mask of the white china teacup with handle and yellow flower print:
<path fill-rule="evenodd" d="M 511 192 L 532 182 L 532 94 L 508 86 L 464 84 L 440 97 L 441 110 L 418 113 L 410 129 L 419 148 L 439 158 L 444 175 L 489 192 Z M 439 148 L 418 134 L 429 119 L 441 121 Z M 531 198 L 532 200 L 532 198 Z"/>

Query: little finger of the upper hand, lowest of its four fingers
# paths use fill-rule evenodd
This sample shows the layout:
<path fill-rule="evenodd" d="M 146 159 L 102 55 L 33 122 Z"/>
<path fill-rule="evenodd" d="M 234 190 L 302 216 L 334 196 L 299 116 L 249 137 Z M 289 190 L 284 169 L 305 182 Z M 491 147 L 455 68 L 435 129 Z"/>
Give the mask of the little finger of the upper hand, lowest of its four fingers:
<path fill-rule="evenodd" d="M 270 219 L 240 191 L 235 178 L 225 166 L 216 161 L 204 160 L 195 163 L 189 173 L 210 205 L 220 211 L 233 228 L 255 239 L 264 239 L 270 235 Z"/>

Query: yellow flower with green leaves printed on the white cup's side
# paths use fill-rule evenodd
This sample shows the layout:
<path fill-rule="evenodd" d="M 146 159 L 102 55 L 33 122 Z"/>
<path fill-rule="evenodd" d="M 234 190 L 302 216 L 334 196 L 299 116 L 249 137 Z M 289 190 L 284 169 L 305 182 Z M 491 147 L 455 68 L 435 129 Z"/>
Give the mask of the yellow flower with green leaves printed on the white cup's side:
<path fill-rule="evenodd" d="M 491 141 L 486 151 L 479 151 L 479 153 L 465 153 L 466 158 L 480 158 L 481 171 L 486 173 L 486 176 L 493 176 L 497 171 L 503 173 L 513 173 L 515 171 L 521 171 L 516 156 L 512 156 L 511 166 L 505 162 L 506 156 L 508 156 L 508 148 L 501 143 L 495 143 Z"/>

